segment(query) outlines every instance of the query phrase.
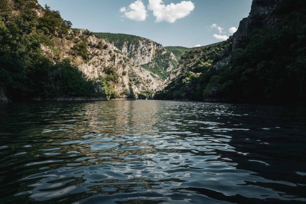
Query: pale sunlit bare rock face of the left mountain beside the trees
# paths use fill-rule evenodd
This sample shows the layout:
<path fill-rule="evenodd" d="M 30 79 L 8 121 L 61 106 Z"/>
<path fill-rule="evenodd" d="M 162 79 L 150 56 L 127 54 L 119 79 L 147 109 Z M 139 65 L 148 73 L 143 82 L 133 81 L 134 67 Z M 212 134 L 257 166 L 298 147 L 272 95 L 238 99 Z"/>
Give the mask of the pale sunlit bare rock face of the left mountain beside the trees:
<path fill-rule="evenodd" d="M 90 56 L 88 60 L 74 55 L 71 51 L 73 46 L 76 45 L 76 42 L 84 39 Z M 77 30 L 74 40 L 64 38 L 58 38 L 56 40 L 58 41 L 56 43 L 56 50 L 60 52 L 57 56 L 55 56 L 54 51 L 48 46 L 41 45 L 41 49 L 47 57 L 54 59 L 54 61 L 56 61 L 55 58 L 58 56 L 60 59 L 71 59 L 72 64 L 77 66 L 90 79 L 98 79 L 99 76 L 106 76 L 105 69 L 107 67 L 113 67 L 119 75 L 118 82 L 113 83 L 114 90 L 120 94 L 121 98 L 129 97 L 131 89 L 134 93 L 133 96 L 135 96 L 141 91 L 157 91 L 163 84 L 159 76 L 140 67 L 107 40 L 98 39 L 94 35 L 88 34 L 88 31 L 85 29 Z M 147 47 L 143 46 L 142 49 L 146 50 Z M 137 53 L 142 55 L 139 49 Z M 149 60 L 150 55 L 147 55 L 145 58 Z"/>

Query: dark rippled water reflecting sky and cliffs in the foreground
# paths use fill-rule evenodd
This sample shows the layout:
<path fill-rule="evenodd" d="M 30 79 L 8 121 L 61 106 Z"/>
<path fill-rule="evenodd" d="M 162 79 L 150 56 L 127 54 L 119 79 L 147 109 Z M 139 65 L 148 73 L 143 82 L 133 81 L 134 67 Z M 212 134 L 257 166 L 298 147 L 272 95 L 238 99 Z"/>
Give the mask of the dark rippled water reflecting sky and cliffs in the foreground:
<path fill-rule="evenodd" d="M 0 203 L 305 203 L 306 108 L 0 104 Z"/>

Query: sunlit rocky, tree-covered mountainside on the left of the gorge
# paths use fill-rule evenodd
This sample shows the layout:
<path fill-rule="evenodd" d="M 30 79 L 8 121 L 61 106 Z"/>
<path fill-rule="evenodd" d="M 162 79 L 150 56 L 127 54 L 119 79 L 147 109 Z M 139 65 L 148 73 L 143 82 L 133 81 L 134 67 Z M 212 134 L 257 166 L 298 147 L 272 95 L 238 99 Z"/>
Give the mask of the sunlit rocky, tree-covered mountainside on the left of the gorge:
<path fill-rule="evenodd" d="M 71 25 L 37 0 L 1 1 L 2 101 L 137 98 L 137 94 L 147 97 L 160 89 L 164 78 L 140 65 L 152 63 L 154 56 L 170 56 L 161 45 L 141 38 L 135 46 L 141 42 L 143 49 L 131 45 L 122 52 Z M 138 52 L 150 48 L 149 53 Z"/>

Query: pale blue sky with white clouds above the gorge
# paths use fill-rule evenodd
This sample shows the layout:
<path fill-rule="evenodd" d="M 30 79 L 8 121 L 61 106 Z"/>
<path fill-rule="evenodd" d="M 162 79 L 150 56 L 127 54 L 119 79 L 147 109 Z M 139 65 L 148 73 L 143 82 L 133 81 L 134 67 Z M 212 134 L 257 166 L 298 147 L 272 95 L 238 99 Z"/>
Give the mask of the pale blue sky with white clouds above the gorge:
<path fill-rule="evenodd" d="M 73 28 L 137 35 L 163 46 L 204 46 L 227 39 L 252 0 L 39 0 Z"/>

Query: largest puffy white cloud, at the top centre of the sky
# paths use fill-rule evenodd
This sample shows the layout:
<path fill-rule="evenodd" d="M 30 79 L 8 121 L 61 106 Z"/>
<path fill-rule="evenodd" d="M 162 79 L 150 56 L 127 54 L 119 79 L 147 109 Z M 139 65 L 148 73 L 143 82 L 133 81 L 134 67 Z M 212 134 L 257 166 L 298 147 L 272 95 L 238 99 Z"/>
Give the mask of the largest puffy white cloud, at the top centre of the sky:
<path fill-rule="evenodd" d="M 155 22 L 167 21 L 169 23 L 174 23 L 177 19 L 188 16 L 194 8 L 191 1 L 165 5 L 162 0 L 149 0 L 148 5 L 148 9 L 152 10 L 156 17 Z"/>

